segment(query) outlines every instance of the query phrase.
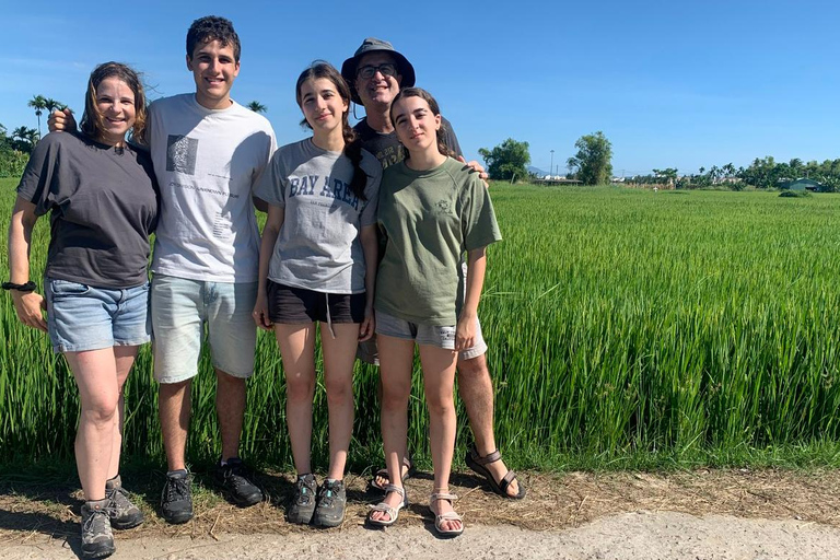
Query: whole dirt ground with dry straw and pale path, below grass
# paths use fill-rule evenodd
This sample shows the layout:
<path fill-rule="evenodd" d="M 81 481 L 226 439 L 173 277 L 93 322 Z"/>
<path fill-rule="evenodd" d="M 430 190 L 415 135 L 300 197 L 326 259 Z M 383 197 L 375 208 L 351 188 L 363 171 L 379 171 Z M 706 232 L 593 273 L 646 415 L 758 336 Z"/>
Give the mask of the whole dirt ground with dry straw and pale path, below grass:
<path fill-rule="evenodd" d="M 438 539 L 423 497 L 431 480 L 407 485 L 412 504 L 397 526 L 363 526 L 377 500 L 349 479 L 345 524 L 330 530 L 283 521 L 291 480 L 268 475 L 268 500 L 236 509 L 197 494 L 196 517 L 171 526 L 154 513 L 159 481 L 136 494 L 147 522 L 117 533 L 115 560 L 140 559 L 686 559 L 840 558 L 840 472 L 697 470 L 670 474 L 523 474 L 522 502 L 488 493 L 469 475 L 453 478 L 466 532 Z M 200 486 L 200 485 L 199 485 Z M 0 559 L 73 559 L 79 495 L 68 487 L 0 486 Z"/>

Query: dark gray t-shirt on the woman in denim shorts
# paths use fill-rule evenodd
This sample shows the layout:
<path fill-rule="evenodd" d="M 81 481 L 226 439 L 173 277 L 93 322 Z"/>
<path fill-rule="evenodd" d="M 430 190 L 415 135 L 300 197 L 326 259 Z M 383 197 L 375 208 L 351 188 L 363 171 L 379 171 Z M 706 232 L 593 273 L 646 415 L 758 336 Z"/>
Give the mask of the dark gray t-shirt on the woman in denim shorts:
<path fill-rule="evenodd" d="M 148 280 L 158 184 L 149 154 L 69 132 L 38 142 L 18 195 L 51 211 L 46 276 L 102 288 Z"/>

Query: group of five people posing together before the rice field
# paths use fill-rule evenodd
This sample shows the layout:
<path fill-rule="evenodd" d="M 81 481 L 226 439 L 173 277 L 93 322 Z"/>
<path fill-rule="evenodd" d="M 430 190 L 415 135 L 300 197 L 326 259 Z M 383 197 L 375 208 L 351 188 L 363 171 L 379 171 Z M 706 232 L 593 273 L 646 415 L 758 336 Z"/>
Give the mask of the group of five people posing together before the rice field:
<path fill-rule="evenodd" d="M 464 523 L 448 488 L 456 369 L 475 436 L 467 465 L 500 495 L 525 495 L 495 445 L 477 317 L 486 247 L 501 240 L 483 170 L 464 162 L 434 97 L 413 86 L 413 67 L 385 40 L 365 39 L 340 71 L 316 61 L 301 72 L 295 96 L 312 136 L 280 148 L 268 120 L 231 97 L 240 55 L 230 21 L 196 20 L 186 40 L 195 92 L 151 104 L 131 68 L 97 66 L 80 130 L 71 113 L 54 113 L 54 132 L 18 187 L 3 288 L 20 320 L 48 332 L 79 388 L 82 553 L 113 553 L 112 528 L 143 521 L 119 458 L 122 387 L 150 341 L 168 463 L 162 516 L 185 523 L 194 513 L 185 451 L 205 339 L 222 441 L 214 480 L 240 505 L 264 499 L 240 458 L 258 328 L 273 331 L 285 375 L 298 475 L 289 522 L 332 527 L 345 517 L 357 358 L 380 366 L 385 455 L 371 480 L 384 497 L 366 522 L 397 521 L 413 472 L 407 408 L 417 347 L 434 466 L 429 508 L 436 532 L 457 536 Z M 354 127 L 351 103 L 365 112 Z M 255 209 L 267 212 L 261 232 Z M 46 213 L 39 287 L 30 248 Z M 318 331 L 329 418 L 320 485 L 310 451 Z"/>

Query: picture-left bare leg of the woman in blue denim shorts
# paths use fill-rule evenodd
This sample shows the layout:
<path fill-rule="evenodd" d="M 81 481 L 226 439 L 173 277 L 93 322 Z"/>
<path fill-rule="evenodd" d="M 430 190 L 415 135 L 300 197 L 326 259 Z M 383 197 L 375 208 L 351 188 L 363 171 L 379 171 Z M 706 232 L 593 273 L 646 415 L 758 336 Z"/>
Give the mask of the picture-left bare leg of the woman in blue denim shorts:
<path fill-rule="evenodd" d="M 137 352 L 137 347 L 132 347 Z M 75 463 L 86 501 L 105 499 L 114 431 L 119 413 L 119 387 L 114 349 L 66 352 L 82 410 L 75 434 Z"/>

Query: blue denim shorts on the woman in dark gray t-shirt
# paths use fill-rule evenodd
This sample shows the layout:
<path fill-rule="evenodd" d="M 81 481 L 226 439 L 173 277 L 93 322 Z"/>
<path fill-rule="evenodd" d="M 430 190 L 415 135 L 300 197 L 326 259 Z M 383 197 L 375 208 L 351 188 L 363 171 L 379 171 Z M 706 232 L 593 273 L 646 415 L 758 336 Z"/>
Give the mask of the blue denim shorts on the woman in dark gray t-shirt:
<path fill-rule="evenodd" d="M 46 278 L 44 292 L 56 352 L 139 346 L 151 340 L 148 282 L 118 289 Z"/>

